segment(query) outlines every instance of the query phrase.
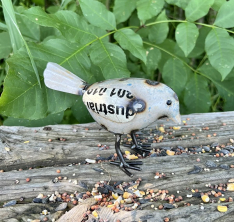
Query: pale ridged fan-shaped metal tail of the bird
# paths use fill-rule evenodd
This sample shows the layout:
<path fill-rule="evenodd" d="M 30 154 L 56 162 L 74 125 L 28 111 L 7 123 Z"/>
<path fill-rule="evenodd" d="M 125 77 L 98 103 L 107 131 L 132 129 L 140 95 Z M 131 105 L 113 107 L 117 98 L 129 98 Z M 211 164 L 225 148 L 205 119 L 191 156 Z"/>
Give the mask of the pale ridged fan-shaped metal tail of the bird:
<path fill-rule="evenodd" d="M 44 71 L 45 85 L 61 92 L 83 95 L 87 83 L 62 66 L 49 62 Z"/>

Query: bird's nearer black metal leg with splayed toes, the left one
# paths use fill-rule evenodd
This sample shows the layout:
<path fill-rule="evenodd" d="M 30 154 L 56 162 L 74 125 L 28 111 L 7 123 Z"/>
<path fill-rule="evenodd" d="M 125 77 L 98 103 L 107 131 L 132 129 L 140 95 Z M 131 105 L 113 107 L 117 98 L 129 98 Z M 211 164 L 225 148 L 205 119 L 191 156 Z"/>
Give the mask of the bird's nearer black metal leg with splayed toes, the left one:
<path fill-rule="evenodd" d="M 123 154 L 121 153 L 120 150 L 120 140 L 121 140 L 121 135 L 120 134 L 115 134 L 115 150 L 116 153 L 119 157 L 119 161 L 115 161 L 115 162 L 110 162 L 113 165 L 118 165 L 119 168 L 126 173 L 128 176 L 132 177 L 133 174 L 130 173 L 127 169 L 132 169 L 132 170 L 138 170 L 140 171 L 141 168 L 140 167 L 136 167 L 134 165 L 142 165 L 141 161 L 125 161 Z"/>

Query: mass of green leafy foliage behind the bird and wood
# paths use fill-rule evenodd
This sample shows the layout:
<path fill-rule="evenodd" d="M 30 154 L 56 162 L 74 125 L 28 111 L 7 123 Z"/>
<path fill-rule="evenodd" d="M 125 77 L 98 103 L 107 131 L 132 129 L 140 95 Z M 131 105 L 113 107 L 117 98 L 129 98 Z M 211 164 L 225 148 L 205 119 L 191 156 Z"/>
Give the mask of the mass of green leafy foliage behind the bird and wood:
<path fill-rule="evenodd" d="M 92 121 L 82 98 L 45 87 L 56 62 L 93 83 L 164 82 L 181 113 L 234 110 L 234 0 L 1 0 L 1 125 Z"/>

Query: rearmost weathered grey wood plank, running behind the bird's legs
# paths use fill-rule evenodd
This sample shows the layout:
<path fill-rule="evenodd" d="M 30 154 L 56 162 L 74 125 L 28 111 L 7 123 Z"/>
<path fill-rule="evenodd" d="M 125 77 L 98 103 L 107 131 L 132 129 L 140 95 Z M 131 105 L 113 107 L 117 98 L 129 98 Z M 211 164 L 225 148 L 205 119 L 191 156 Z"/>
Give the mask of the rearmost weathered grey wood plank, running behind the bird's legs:
<path fill-rule="evenodd" d="M 190 118 L 190 120 L 186 120 Z M 185 115 L 181 130 L 169 129 L 172 122 L 159 120 L 145 129 L 144 135 L 149 136 L 150 129 L 156 124 L 165 125 L 172 135 L 164 135 L 165 140 L 153 143 L 152 147 L 207 145 L 213 142 L 227 143 L 233 137 L 234 112 Z M 224 126 L 223 123 L 226 125 Z M 209 127 L 209 130 L 202 130 Z M 97 154 L 110 156 L 114 153 L 113 134 L 101 129 L 96 123 L 81 125 L 56 125 L 52 130 L 45 131 L 43 127 L 0 127 L 0 169 L 5 171 L 27 169 L 29 167 L 54 166 L 55 164 L 79 163 L 85 158 L 94 159 Z M 189 130 L 190 129 L 190 130 Z M 195 133 L 195 136 L 192 136 Z M 216 133 L 217 136 L 213 136 Z M 211 135 L 211 137 L 207 137 Z M 174 136 L 175 138 L 171 138 Z M 198 137 L 198 139 L 197 139 Z M 66 141 L 60 141 L 65 138 Z M 51 139 L 52 142 L 48 142 Z M 28 143 L 24 143 L 29 141 Z M 110 146 L 109 150 L 100 151 L 98 144 Z M 5 147 L 10 148 L 6 151 Z"/>

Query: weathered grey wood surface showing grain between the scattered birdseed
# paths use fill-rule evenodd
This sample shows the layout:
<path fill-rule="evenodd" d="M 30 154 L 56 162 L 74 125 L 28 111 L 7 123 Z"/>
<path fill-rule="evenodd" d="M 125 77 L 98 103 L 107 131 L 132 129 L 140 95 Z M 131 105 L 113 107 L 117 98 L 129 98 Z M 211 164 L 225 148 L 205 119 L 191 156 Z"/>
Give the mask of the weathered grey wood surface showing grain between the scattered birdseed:
<path fill-rule="evenodd" d="M 150 134 L 154 134 L 156 127 L 163 124 L 168 133 L 163 135 L 163 142 L 152 144 L 154 148 L 176 147 L 178 145 L 193 147 L 210 145 L 214 142 L 227 144 L 230 143 L 230 139 L 234 139 L 234 112 L 192 114 L 183 116 L 182 120 L 186 120 L 187 125 L 182 125 L 180 130 L 170 129 L 173 123 L 159 120 L 157 125 L 153 124 L 142 130 L 140 136 L 149 137 Z M 110 221 L 120 219 L 121 222 L 144 221 L 144 218 L 147 222 L 163 221 L 164 216 L 170 216 L 171 221 L 182 222 L 198 221 L 198 219 L 200 221 L 233 221 L 233 203 L 229 204 L 230 208 L 226 213 L 220 213 L 216 210 L 217 204 L 205 204 L 205 209 L 200 210 L 201 199 L 187 198 L 186 196 L 191 194 L 191 189 L 207 192 L 209 190 L 206 186 L 208 183 L 227 183 L 229 179 L 234 178 L 234 168 L 229 170 L 220 168 L 221 164 L 234 164 L 234 157 L 216 158 L 210 153 L 147 157 L 142 159 L 142 171 L 132 171 L 134 177 L 129 178 L 118 167 L 109 163 L 78 164 L 86 158 L 95 159 L 97 154 L 108 157 L 115 152 L 113 134 L 100 129 L 96 123 L 50 127 L 52 129 L 49 131 L 43 130 L 43 127 L 0 127 L 0 169 L 5 171 L 0 173 L 0 203 L 9 200 L 18 201 L 22 196 L 31 201 L 39 193 L 48 195 L 55 191 L 60 193 L 85 191 L 79 186 L 81 181 L 88 185 L 88 190 L 91 190 L 93 185 L 100 180 L 110 181 L 112 184 L 115 181 L 131 181 L 141 177 L 142 183 L 139 189 L 144 190 L 145 184 L 150 183 L 151 187 L 167 189 L 171 194 L 176 195 L 177 191 L 180 191 L 179 195 L 184 198 L 180 204 L 189 202 L 193 206 L 181 207 L 179 204 L 177 209 L 155 211 L 149 205 L 145 206 L 143 210 L 123 211 L 117 214 L 103 209 L 100 214 L 109 215 Z M 209 130 L 205 130 L 204 127 L 209 127 Z M 169 132 L 171 133 L 169 134 Z M 213 135 L 214 133 L 216 136 Z M 208 135 L 210 137 L 207 137 Z M 60 138 L 66 138 L 66 141 L 60 141 Z M 52 141 L 48 142 L 49 139 Z M 29 142 L 25 143 L 25 141 Z M 108 145 L 110 149 L 100 151 L 98 144 Z M 10 151 L 5 147 L 9 148 Z M 126 147 L 122 147 L 122 149 L 129 150 Z M 217 167 L 205 171 L 207 161 L 215 162 Z M 189 175 L 188 172 L 195 165 L 203 170 L 198 174 Z M 29 170 L 29 167 L 34 169 Z M 102 168 L 104 174 L 93 170 L 94 167 Z M 23 170 L 18 171 L 20 168 Z M 58 174 L 57 169 L 60 169 L 61 173 Z M 164 173 L 166 177 L 154 179 L 156 171 Z M 68 179 L 53 183 L 52 181 L 58 176 L 68 177 Z M 26 178 L 31 178 L 31 181 L 26 182 Z M 16 180 L 19 183 L 16 184 Z M 234 198 L 234 192 L 225 192 L 225 197 Z M 154 205 L 157 207 L 161 203 L 162 201 L 154 202 Z M 1 206 L 2 204 L 0 204 Z M 18 201 L 15 206 L 0 208 L 0 216 L 4 222 L 27 221 L 25 215 L 39 214 L 39 210 L 33 211 L 34 213 L 30 212 L 30 209 L 35 208 L 35 206 L 40 206 L 40 210 L 43 207 L 48 207 L 43 204 L 20 204 Z M 50 208 L 51 215 L 55 213 L 54 209 L 55 207 Z M 15 214 L 18 211 L 24 212 L 23 216 Z M 5 216 L 3 217 L 3 215 Z M 36 218 L 36 216 L 32 218 Z"/>

